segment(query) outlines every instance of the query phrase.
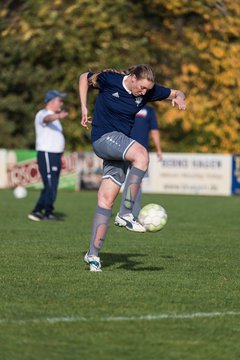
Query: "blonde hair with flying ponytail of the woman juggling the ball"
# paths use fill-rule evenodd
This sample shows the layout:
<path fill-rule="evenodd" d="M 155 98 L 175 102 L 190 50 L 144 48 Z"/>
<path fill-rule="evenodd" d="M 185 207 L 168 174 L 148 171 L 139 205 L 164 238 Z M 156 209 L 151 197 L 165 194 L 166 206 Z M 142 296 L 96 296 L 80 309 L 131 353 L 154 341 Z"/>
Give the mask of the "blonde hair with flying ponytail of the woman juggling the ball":
<path fill-rule="evenodd" d="M 113 72 L 116 74 L 122 74 L 122 75 L 135 75 L 137 80 L 147 79 L 148 81 L 155 82 L 155 75 L 152 70 L 152 68 L 147 64 L 139 64 L 131 66 L 130 68 L 126 70 L 117 70 L 117 69 L 104 69 L 101 71 L 98 71 L 94 73 L 89 79 L 88 84 L 92 85 L 93 87 L 98 87 L 98 76 L 103 72 Z"/>

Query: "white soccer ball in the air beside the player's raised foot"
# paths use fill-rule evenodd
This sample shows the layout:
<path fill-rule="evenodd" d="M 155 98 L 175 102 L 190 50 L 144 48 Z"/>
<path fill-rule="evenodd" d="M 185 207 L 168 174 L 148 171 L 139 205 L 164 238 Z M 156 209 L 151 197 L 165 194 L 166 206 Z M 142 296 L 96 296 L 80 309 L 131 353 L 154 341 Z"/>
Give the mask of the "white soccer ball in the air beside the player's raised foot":
<path fill-rule="evenodd" d="M 167 212 L 158 204 L 148 204 L 139 213 L 138 220 L 147 231 L 161 230 L 167 223 Z"/>

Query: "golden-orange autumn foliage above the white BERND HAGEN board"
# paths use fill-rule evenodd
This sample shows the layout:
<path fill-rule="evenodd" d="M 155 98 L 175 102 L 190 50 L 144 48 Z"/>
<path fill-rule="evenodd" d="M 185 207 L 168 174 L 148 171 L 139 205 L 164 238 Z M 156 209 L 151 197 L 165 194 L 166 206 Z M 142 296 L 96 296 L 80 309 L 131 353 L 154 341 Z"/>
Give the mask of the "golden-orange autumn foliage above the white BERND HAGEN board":
<path fill-rule="evenodd" d="M 164 113 L 165 147 L 239 153 L 238 2 L 181 0 L 166 4 L 159 0 L 148 5 L 149 17 L 163 7 L 162 21 L 167 31 L 156 26 L 152 41 L 166 50 L 164 73 L 173 79 L 176 88 L 181 86 L 188 94 L 184 116 L 180 118 L 173 109 Z"/>

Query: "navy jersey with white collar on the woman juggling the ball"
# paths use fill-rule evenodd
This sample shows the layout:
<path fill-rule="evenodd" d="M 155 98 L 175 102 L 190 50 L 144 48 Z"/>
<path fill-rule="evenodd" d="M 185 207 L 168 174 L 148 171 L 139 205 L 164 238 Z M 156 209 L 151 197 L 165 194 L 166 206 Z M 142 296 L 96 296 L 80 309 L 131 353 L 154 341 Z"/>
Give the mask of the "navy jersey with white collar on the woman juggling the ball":
<path fill-rule="evenodd" d="M 88 77 L 91 75 L 93 73 Z M 126 89 L 123 79 L 124 75 L 113 72 L 102 72 L 98 76 L 99 94 L 92 121 L 92 142 L 112 131 L 130 136 L 136 113 L 147 102 L 164 100 L 171 92 L 169 88 L 155 84 L 144 96 L 137 97 Z"/>

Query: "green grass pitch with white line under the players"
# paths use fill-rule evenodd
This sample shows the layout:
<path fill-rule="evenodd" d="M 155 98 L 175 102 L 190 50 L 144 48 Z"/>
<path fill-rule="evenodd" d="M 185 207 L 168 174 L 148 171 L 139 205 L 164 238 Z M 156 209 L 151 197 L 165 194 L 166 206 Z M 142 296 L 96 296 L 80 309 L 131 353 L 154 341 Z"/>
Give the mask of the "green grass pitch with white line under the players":
<path fill-rule="evenodd" d="M 96 193 L 59 192 L 62 222 L 27 219 L 37 196 L 0 191 L 1 360 L 240 359 L 239 197 L 145 194 L 166 227 L 112 219 L 90 273 Z"/>

